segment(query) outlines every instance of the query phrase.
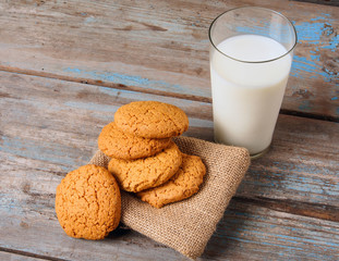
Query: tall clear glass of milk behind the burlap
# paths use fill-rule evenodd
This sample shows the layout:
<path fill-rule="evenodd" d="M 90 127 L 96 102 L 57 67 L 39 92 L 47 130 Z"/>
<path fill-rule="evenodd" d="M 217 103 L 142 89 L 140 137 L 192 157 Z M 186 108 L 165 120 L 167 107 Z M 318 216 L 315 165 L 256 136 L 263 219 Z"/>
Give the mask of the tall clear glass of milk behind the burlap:
<path fill-rule="evenodd" d="M 283 15 L 238 8 L 209 27 L 214 132 L 217 142 L 266 152 L 288 82 L 296 33 Z"/>

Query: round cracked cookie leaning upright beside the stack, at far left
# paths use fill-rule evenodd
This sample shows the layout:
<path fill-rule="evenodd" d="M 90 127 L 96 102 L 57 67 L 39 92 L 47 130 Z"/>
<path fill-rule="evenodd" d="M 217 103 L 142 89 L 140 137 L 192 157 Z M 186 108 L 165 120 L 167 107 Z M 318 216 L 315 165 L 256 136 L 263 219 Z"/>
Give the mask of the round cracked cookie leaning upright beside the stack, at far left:
<path fill-rule="evenodd" d="M 120 222 L 121 196 L 116 178 L 93 164 L 70 172 L 57 187 L 56 212 L 69 236 L 102 239 Z"/>

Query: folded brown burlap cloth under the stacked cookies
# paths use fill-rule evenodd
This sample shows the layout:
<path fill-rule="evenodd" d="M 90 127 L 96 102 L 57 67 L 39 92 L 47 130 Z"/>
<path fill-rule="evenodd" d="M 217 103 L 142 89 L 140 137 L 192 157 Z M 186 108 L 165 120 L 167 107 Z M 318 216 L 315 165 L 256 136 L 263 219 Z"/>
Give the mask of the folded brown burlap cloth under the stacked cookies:
<path fill-rule="evenodd" d="M 182 152 L 199 156 L 207 173 L 201 190 L 180 202 L 156 209 L 122 191 L 121 221 L 134 231 L 196 259 L 207 245 L 250 165 L 246 149 L 196 138 L 173 139 Z M 106 166 L 109 158 L 97 151 L 89 163 Z"/>

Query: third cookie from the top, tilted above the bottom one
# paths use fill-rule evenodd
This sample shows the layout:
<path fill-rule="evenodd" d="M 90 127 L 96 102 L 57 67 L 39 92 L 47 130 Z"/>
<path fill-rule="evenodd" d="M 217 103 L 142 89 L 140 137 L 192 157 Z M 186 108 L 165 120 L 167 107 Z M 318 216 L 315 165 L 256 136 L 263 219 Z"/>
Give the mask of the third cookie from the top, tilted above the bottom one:
<path fill-rule="evenodd" d="M 116 176 L 122 189 L 138 192 L 166 183 L 177 173 L 181 161 L 181 152 L 171 141 L 170 147 L 145 159 L 126 161 L 112 158 L 108 170 Z"/>

